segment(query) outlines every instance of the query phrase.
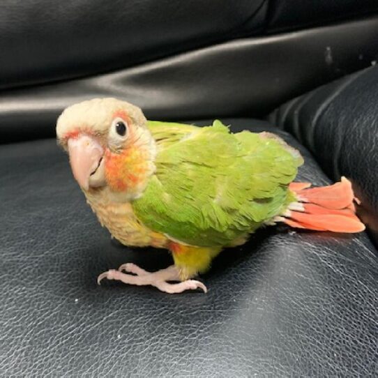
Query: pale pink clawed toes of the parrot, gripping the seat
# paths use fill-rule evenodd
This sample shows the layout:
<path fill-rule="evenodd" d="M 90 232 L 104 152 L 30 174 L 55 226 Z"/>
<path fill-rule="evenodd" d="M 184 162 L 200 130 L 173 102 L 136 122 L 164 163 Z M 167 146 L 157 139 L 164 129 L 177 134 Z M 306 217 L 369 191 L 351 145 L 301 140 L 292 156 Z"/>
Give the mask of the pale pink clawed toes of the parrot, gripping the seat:
<path fill-rule="evenodd" d="M 123 273 L 126 271 L 128 273 Z M 179 269 L 172 265 L 166 269 L 162 269 L 157 272 L 147 272 L 139 266 L 127 263 L 122 264 L 118 271 L 110 269 L 104 273 L 101 273 L 97 278 L 97 283 L 100 285 L 100 281 L 104 278 L 108 280 L 116 280 L 124 282 L 128 285 L 151 285 L 157 287 L 161 292 L 176 294 L 185 292 L 186 290 L 202 289 L 207 292 L 206 286 L 199 281 L 186 280 L 179 283 L 169 283 L 167 281 L 179 281 Z"/>

